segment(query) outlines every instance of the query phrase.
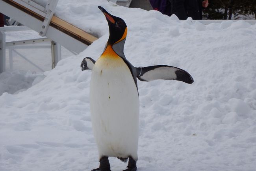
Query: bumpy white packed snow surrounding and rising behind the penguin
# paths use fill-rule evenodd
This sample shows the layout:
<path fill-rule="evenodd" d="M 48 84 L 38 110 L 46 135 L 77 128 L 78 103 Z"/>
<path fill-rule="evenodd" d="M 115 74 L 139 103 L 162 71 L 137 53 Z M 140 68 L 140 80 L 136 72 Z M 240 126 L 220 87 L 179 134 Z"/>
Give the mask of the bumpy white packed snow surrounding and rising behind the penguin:
<path fill-rule="evenodd" d="M 204 26 L 105 0 L 59 1 L 57 15 L 98 35 L 78 56 L 61 60 L 26 91 L 0 96 L 1 171 L 85 171 L 98 167 L 91 128 L 91 71 L 108 24 L 97 6 L 128 26 L 124 53 L 134 66 L 168 64 L 195 82 L 138 81 L 138 171 L 254 171 L 256 163 L 256 25 Z M 75 17 L 74 17 L 75 16 Z M 110 158 L 111 170 L 127 164 Z"/>

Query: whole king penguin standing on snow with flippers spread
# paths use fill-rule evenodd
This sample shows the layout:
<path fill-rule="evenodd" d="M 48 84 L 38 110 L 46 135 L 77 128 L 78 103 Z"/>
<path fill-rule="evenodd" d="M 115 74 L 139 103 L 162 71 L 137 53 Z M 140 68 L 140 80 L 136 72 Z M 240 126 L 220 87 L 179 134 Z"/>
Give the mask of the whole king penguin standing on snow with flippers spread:
<path fill-rule="evenodd" d="M 93 134 L 98 147 L 100 166 L 92 171 L 111 171 L 108 157 L 126 162 L 124 171 L 136 171 L 139 138 L 139 94 L 137 78 L 141 81 L 156 79 L 193 83 L 186 71 L 168 65 L 134 67 L 124 56 L 127 26 L 122 18 L 105 15 L 109 26 L 106 47 L 94 61 L 83 59 L 81 68 L 92 70 L 90 83 L 90 110 Z"/>

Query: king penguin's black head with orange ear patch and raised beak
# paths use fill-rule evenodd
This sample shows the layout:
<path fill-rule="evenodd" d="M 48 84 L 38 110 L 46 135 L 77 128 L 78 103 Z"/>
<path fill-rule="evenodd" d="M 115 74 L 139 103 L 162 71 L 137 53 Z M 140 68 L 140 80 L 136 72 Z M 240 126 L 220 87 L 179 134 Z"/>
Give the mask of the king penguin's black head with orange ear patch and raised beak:
<path fill-rule="evenodd" d="M 106 20 L 108 21 L 108 27 L 109 27 L 109 38 L 108 38 L 108 44 L 113 45 L 121 40 L 124 40 L 127 35 L 127 26 L 122 20 L 122 18 L 115 17 L 106 11 L 103 7 L 98 7 L 102 13 L 105 15 Z"/>

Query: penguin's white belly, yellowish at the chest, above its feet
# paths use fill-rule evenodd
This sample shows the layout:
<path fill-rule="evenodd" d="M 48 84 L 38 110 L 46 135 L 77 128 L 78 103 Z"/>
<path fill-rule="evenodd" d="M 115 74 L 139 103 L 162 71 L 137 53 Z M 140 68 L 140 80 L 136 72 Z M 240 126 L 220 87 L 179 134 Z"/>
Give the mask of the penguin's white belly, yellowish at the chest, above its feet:
<path fill-rule="evenodd" d="M 90 84 L 90 109 L 99 157 L 137 161 L 139 95 L 130 69 L 120 57 L 102 55 Z"/>

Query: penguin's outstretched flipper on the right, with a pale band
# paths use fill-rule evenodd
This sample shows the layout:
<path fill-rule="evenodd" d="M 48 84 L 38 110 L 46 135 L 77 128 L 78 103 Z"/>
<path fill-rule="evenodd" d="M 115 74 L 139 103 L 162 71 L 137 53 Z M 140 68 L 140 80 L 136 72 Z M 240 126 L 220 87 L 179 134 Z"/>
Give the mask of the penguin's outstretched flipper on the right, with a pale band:
<path fill-rule="evenodd" d="M 155 65 L 147 67 L 138 67 L 137 78 L 140 81 L 153 81 L 156 79 L 173 79 L 183 81 L 188 84 L 194 82 L 191 75 L 180 68 L 168 65 Z"/>

